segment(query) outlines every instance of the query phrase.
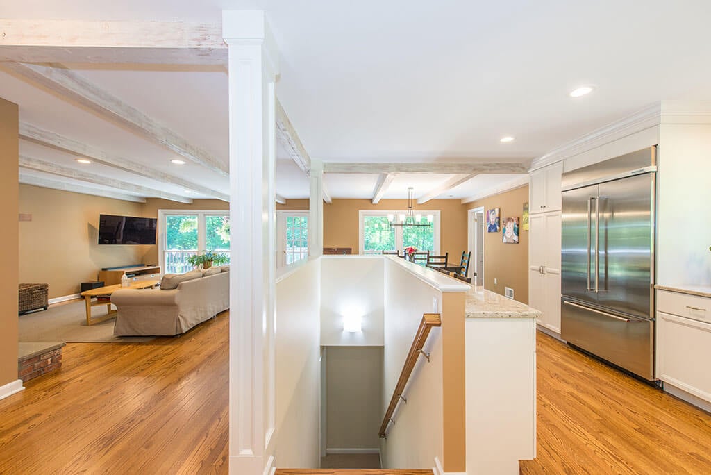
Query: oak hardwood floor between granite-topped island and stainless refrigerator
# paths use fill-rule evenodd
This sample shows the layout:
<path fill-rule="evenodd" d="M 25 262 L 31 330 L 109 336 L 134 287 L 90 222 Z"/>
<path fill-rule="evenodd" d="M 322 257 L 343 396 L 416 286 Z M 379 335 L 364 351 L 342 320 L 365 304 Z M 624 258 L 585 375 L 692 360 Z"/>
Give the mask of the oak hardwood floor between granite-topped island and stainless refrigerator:
<path fill-rule="evenodd" d="M 540 331 L 537 351 L 538 457 L 521 474 L 711 473 L 707 412 Z"/>

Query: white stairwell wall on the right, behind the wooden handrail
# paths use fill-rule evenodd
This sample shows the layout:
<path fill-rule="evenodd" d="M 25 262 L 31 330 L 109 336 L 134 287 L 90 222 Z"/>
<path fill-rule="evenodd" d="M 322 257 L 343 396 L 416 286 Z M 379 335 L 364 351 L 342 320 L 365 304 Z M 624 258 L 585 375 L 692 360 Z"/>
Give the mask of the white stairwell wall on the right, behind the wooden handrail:
<path fill-rule="evenodd" d="M 437 272 L 395 259 L 397 257 L 385 258 L 382 415 L 390 403 L 422 314 L 442 310 L 442 292 L 412 273 Z M 412 272 L 408 271 L 411 266 Z M 400 402 L 393 417 L 395 425 L 390 425 L 387 439 L 381 439 L 380 457 L 384 469 L 432 469 L 435 457 L 444 461 L 442 332 L 439 329 L 432 329 L 424 349 L 431 353 L 431 361 L 419 358 L 410 384 L 405 388 L 407 404 Z"/>

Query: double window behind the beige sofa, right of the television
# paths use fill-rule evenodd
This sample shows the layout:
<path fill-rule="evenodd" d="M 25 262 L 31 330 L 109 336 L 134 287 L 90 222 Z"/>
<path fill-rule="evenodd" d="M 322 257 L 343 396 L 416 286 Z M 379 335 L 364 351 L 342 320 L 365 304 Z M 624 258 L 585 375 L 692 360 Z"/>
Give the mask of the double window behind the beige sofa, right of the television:
<path fill-rule="evenodd" d="M 191 255 L 205 250 L 230 255 L 230 215 L 228 210 L 159 210 L 159 256 L 165 274 L 181 274 L 193 269 Z"/>

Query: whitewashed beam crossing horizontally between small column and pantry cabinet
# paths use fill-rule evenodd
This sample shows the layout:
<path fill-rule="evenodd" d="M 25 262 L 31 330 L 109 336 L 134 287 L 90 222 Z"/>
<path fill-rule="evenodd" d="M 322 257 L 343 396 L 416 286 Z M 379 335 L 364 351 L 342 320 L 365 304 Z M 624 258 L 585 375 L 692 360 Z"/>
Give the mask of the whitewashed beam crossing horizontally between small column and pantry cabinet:
<path fill-rule="evenodd" d="M 331 174 L 526 174 L 528 164 L 522 163 L 341 163 L 324 162 L 324 173 Z"/>

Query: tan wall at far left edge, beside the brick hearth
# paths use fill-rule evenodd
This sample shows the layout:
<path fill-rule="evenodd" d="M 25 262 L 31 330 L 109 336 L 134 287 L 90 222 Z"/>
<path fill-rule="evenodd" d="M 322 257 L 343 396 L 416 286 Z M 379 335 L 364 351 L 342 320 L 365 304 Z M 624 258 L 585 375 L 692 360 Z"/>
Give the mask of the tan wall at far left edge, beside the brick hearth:
<path fill-rule="evenodd" d="M 6 226 L 0 233 L 0 249 L 4 250 L 0 272 L 0 386 L 17 380 L 18 114 L 16 104 L 0 99 L 0 190 L 4 205 L 0 222 Z"/>

